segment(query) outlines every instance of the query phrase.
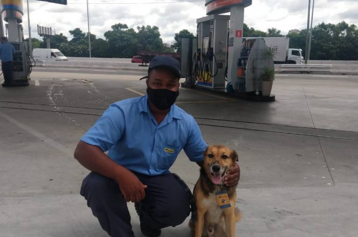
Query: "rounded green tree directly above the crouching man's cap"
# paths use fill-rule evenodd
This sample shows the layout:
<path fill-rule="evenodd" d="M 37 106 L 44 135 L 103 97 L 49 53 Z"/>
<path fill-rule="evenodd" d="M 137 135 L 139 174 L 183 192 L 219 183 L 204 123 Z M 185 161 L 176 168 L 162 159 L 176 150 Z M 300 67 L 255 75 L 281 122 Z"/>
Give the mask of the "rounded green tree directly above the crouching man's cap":
<path fill-rule="evenodd" d="M 139 50 L 160 51 L 163 48 L 163 40 L 160 38 L 157 26 L 137 26 L 137 30 Z"/>

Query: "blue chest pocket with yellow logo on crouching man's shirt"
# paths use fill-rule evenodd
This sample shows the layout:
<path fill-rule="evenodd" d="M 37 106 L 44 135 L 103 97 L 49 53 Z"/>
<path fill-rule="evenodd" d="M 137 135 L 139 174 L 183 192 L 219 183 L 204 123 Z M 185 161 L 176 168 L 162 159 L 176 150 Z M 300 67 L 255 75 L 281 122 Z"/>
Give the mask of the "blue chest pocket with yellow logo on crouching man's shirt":
<path fill-rule="evenodd" d="M 180 147 L 180 145 L 163 142 L 163 145 L 160 147 L 158 159 L 158 168 L 160 170 L 168 170 L 170 166 L 174 164 L 174 161 L 179 154 Z"/>

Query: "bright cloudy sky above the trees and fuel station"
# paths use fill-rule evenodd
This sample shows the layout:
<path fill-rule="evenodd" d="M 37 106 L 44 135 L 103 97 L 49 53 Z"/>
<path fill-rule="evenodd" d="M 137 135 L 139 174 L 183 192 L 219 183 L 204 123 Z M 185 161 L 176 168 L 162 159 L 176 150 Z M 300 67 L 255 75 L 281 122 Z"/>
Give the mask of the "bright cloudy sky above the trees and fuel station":
<path fill-rule="evenodd" d="M 48 26 L 69 39 L 68 31 L 87 28 L 86 0 L 67 0 L 67 5 L 29 0 L 31 34 L 39 38 L 37 25 Z M 204 0 L 88 0 L 91 33 L 103 38 L 111 25 L 124 23 L 156 25 L 164 42 L 172 42 L 182 29 L 196 33 L 196 19 L 205 16 Z M 286 34 L 290 29 L 304 29 L 307 25 L 308 0 L 253 0 L 245 9 L 245 23 L 266 31 L 275 27 Z M 23 26 L 28 37 L 27 5 L 24 1 Z M 338 23 L 345 20 L 358 25 L 357 0 L 315 0 L 313 24 Z"/>

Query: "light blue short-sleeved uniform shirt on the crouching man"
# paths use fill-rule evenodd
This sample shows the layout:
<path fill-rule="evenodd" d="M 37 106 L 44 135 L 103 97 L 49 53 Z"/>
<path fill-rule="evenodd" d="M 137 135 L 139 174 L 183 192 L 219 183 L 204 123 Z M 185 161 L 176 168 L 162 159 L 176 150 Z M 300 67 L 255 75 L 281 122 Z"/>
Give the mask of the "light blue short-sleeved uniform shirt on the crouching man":
<path fill-rule="evenodd" d="M 158 125 L 147 96 L 113 103 L 82 141 L 108 151 L 108 156 L 129 170 L 145 175 L 169 173 L 184 149 L 190 161 L 202 161 L 207 144 L 194 117 L 171 106 Z"/>

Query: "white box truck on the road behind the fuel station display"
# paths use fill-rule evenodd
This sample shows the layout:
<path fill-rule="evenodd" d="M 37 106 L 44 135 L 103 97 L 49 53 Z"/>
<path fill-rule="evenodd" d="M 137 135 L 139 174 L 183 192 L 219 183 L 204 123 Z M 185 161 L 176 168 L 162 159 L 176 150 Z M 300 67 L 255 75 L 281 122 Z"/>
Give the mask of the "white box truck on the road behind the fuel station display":
<path fill-rule="evenodd" d="M 277 48 L 277 54 L 274 58 L 275 64 L 303 64 L 302 49 L 290 49 L 290 38 L 287 37 L 247 37 L 245 39 L 262 38 L 267 47 Z"/>

